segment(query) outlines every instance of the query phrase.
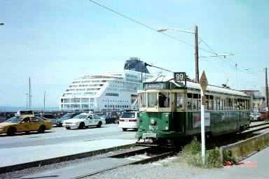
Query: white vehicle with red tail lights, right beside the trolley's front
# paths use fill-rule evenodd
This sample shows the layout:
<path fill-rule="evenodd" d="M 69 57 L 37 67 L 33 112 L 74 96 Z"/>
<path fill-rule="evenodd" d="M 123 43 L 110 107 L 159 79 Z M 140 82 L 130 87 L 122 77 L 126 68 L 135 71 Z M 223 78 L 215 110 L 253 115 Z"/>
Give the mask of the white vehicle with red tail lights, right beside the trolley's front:
<path fill-rule="evenodd" d="M 127 129 L 137 130 L 138 115 L 138 112 L 124 112 L 120 117 L 118 127 L 122 128 L 123 131 L 126 131 Z"/>

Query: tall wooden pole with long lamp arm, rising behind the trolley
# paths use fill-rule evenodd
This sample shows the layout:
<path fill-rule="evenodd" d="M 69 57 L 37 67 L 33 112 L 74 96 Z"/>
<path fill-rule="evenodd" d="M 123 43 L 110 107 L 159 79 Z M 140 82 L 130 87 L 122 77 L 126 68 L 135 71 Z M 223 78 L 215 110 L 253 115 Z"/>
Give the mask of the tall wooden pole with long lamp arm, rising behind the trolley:
<path fill-rule="evenodd" d="M 186 32 L 189 34 L 194 34 L 194 59 L 195 59 L 195 81 L 199 82 L 199 61 L 198 61 L 198 26 L 195 25 L 194 31 L 186 31 L 186 30 L 181 30 L 181 29 L 168 29 L 168 28 L 163 28 L 163 29 L 157 29 L 158 32 L 162 31 L 167 31 L 167 30 L 172 30 L 172 31 L 181 31 L 181 32 Z"/>

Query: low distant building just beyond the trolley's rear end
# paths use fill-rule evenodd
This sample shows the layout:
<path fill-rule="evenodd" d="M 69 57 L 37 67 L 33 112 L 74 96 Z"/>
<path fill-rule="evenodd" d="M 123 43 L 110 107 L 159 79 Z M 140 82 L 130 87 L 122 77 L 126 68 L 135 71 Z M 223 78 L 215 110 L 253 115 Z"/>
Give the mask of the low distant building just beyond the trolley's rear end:
<path fill-rule="evenodd" d="M 264 105 L 265 97 L 261 94 L 259 90 L 240 90 L 240 92 L 244 92 L 248 96 L 251 96 L 252 103 L 251 108 L 253 111 L 261 111 Z"/>

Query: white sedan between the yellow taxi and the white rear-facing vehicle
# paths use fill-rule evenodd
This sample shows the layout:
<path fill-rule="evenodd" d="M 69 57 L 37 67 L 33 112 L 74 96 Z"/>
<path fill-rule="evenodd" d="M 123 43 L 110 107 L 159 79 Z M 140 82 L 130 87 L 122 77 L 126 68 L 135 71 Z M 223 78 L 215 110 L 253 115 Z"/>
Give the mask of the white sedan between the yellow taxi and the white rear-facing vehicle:
<path fill-rule="evenodd" d="M 98 115 L 92 113 L 81 113 L 72 119 L 64 120 L 62 126 L 66 129 L 78 128 L 84 129 L 89 126 L 101 127 L 102 119 Z"/>

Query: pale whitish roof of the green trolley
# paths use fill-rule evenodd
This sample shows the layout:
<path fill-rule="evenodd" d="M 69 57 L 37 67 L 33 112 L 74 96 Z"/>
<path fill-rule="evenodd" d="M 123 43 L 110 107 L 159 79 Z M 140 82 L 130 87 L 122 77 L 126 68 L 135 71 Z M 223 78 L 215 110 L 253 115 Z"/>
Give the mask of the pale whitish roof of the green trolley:
<path fill-rule="evenodd" d="M 174 78 L 172 76 L 158 76 L 157 78 L 149 78 L 146 80 L 145 83 L 158 83 L 158 82 L 170 82 L 176 85 L 177 87 L 185 87 L 185 83 L 177 83 L 174 81 Z M 195 90 L 200 90 L 200 83 L 195 83 L 193 81 L 186 81 L 186 87 L 195 89 Z M 208 85 L 207 86 L 207 92 L 218 92 L 218 93 L 223 93 L 223 94 L 233 94 L 233 95 L 238 95 L 238 96 L 247 96 L 247 94 L 244 94 L 244 92 L 240 92 L 237 90 L 232 90 L 224 87 L 218 87 L 214 85 Z"/>

